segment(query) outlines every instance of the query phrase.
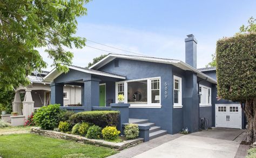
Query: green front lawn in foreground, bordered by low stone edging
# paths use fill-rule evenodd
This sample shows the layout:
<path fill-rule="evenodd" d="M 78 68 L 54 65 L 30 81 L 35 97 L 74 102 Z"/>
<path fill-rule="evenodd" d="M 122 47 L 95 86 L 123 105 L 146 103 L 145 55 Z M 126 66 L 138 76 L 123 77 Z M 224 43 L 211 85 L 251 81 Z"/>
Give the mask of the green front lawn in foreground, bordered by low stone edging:
<path fill-rule="evenodd" d="M 0 136 L 2 157 L 107 157 L 117 151 L 36 134 Z M 18 155 L 18 156 L 17 156 Z"/>

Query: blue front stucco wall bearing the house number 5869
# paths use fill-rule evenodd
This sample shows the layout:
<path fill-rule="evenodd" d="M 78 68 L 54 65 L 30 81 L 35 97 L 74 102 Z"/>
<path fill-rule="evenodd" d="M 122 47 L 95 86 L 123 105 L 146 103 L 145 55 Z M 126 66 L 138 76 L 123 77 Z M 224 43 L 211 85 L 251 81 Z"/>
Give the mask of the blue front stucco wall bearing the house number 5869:
<path fill-rule="evenodd" d="M 167 64 L 150 63 L 146 61 L 136 61 L 119 59 L 119 67 L 114 67 L 114 61 L 100 68 L 100 71 L 124 75 L 127 80 L 161 77 L 161 108 L 130 108 L 130 118 L 149 119 L 162 129 L 172 132 L 172 66 Z M 167 83 L 167 98 L 164 97 L 165 82 Z M 108 85 L 106 83 L 106 85 Z M 114 85 L 112 85 L 114 86 Z M 107 86 L 108 87 L 108 86 Z M 111 97 L 114 97 L 114 88 Z M 107 93 L 110 93 L 107 91 Z M 109 95 L 109 94 L 107 94 Z"/>

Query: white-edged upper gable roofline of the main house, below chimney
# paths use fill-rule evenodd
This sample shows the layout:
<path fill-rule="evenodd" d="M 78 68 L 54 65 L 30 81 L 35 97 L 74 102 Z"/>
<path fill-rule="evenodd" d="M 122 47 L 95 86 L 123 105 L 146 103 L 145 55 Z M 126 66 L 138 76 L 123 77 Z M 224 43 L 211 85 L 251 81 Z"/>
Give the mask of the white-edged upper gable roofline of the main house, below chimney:
<path fill-rule="evenodd" d="M 176 67 L 179 67 L 183 70 L 193 71 L 197 73 L 197 76 L 203 79 L 207 78 L 207 81 L 210 81 L 213 84 L 217 84 L 217 80 L 211 78 L 210 76 L 204 74 L 203 72 L 200 72 L 196 68 L 184 63 L 181 60 L 175 60 L 175 59 L 165 59 L 165 58 L 154 58 L 154 57 L 143 57 L 143 56 L 131 56 L 131 55 L 124 55 L 124 54 L 108 54 L 105 58 L 98 61 L 98 63 L 92 65 L 89 67 L 90 69 L 98 70 L 100 67 L 106 65 L 110 61 L 116 58 L 122 58 L 122 59 L 130 59 L 130 60 L 140 60 L 140 61 L 149 61 L 153 63 L 163 63 L 163 64 L 171 64 Z"/>

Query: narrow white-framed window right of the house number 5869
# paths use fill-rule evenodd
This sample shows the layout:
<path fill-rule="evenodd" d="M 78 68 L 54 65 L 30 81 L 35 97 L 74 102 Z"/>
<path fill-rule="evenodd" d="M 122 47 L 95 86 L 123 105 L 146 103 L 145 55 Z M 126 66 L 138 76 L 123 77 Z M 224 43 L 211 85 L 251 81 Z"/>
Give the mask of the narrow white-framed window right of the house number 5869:
<path fill-rule="evenodd" d="M 173 107 L 181 108 L 182 106 L 182 79 L 173 75 Z"/>

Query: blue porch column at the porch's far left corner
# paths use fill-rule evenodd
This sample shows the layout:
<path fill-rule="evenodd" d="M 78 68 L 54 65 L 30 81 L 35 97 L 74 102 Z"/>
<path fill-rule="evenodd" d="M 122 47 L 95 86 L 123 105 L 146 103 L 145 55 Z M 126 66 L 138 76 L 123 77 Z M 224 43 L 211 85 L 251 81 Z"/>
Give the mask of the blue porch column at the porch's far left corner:
<path fill-rule="evenodd" d="M 51 86 L 51 104 L 60 104 L 63 106 L 63 84 L 50 84 Z"/>

